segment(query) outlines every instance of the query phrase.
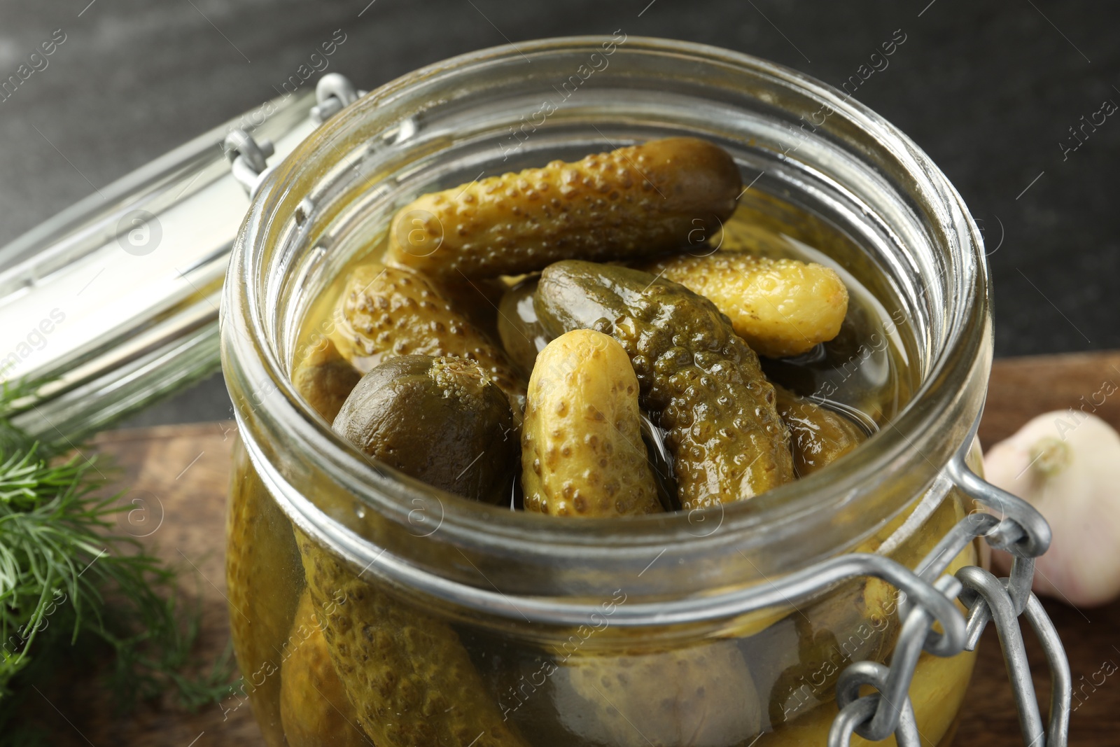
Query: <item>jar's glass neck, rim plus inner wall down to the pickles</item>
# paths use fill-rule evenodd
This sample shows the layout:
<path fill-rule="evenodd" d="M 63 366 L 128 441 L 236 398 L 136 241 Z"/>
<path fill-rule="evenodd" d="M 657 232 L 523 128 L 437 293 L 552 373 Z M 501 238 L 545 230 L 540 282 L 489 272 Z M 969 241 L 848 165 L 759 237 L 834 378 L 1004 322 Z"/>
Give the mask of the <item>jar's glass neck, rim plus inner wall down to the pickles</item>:
<path fill-rule="evenodd" d="M 594 72 L 585 78 L 581 66 Z M 545 101 L 560 105 L 538 114 Z M 813 115 L 825 111 L 818 124 Z M 748 190 L 840 226 L 865 251 L 868 277 L 879 273 L 878 300 L 905 315 L 916 390 L 842 461 L 738 504 L 573 526 L 373 470 L 301 402 L 290 365 L 309 306 L 360 251 L 355 236 L 383 233 L 421 185 L 674 133 L 711 139 L 745 174 L 764 175 Z M 234 249 L 223 358 L 242 438 L 265 484 L 293 521 L 355 562 L 392 558 L 507 594 L 598 594 L 625 577 L 635 594 L 690 595 L 841 552 L 917 499 L 982 405 L 988 312 L 980 234 L 960 196 L 877 114 L 746 55 L 575 37 L 486 49 L 405 75 L 278 166 Z"/>

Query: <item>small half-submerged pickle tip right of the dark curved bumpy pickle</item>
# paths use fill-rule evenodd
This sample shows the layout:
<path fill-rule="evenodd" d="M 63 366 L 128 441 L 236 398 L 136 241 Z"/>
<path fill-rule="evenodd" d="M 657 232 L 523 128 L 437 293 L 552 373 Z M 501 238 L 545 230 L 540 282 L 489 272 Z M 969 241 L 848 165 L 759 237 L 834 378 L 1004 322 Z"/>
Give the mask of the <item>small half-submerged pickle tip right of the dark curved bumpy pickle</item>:
<path fill-rule="evenodd" d="M 804 477 L 832 464 L 867 440 L 867 433 L 839 412 L 774 384 L 777 411 L 790 429 L 793 469 Z"/>

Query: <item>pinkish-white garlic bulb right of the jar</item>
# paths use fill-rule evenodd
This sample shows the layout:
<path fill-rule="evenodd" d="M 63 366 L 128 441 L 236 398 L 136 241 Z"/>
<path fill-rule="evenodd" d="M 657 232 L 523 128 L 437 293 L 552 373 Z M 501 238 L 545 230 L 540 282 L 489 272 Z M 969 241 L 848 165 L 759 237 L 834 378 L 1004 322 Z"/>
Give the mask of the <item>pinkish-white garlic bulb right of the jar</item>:
<path fill-rule="evenodd" d="M 1120 594 L 1120 435 L 1074 410 L 1038 415 L 984 457 L 984 477 L 1033 504 L 1054 538 L 1034 590 L 1074 606 Z M 1006 552 L 992 552 L 1005 575 Z"/>

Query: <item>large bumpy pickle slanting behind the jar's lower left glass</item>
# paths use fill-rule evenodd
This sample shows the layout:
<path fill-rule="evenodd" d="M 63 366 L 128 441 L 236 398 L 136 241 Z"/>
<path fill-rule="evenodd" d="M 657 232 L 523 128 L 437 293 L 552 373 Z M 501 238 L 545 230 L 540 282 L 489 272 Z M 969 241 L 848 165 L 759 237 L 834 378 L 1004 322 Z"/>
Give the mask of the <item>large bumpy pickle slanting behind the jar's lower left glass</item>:
<path fill-rule="evenodd" d="M 525 747 L 458 635 L 357 576 L 297 531 L 335 671 L 377 747 Z"/>

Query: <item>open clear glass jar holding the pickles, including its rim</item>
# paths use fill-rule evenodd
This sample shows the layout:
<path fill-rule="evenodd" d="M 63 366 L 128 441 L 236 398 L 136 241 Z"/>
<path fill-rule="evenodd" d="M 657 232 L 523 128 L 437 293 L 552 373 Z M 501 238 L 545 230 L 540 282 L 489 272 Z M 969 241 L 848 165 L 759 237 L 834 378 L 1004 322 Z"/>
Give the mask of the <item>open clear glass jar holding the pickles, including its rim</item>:
<path fill-rule="evenodd" d="M 758 224 L 843 269 L 883 315 L 902 394 L 859 449 L 747 502 L 563 522 L 375 469 L 299 395 L 293 361 L 328 332 L 308 328 L 317 301 L 417 195 L 676 134 L 727 149 Z M 988 292 L 972 218 L 911 140 L 745 55 L 620 31 L 551 39 L 452 58 L 345 109 L 261 185 L 222 307 L 243 442 L 231 619 L 267 740 L 824 744 L 840 672 L 889 661 L 900 598 L 871 577 L 809 595 L 785 581 L 852 552 L 914 567 L 969 514 L 946 465 L 984 398 Z M 874 368 L 861 342 L 852 365 Z M 963 548 L 950 572 L 978 562 Z M 973 661 L 922 654 L 923 744 L 952 739 Z"/>

